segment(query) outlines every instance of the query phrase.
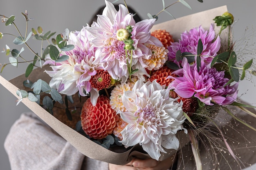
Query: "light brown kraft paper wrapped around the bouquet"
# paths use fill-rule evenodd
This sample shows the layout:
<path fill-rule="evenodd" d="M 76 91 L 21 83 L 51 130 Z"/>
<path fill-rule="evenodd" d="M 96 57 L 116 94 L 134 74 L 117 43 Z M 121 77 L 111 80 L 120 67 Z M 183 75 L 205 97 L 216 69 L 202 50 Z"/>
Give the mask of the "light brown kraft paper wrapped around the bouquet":
<path fill-rule="evenodd" d="M 170 20 L 153 26 L 152 30 L 156 29 L 165 29 L 173 35 L 175 40 L 180 38 L 180 34 L 185 30 L 192 29 L 193 27 L 198 27 L 202 25 L 204 29 L 209 29 L 210 24 L 213 23 L 213 18 L 218 15 L 222 15 L 227 11 L 226 6 L 218 7 L 215 9 L 210 9 L 207 11 L 195 13 L 192 15 L 187 15 L 182 18 L 177 18 L 176 20 Z M 46 82 L 49 82 L 50 77 L 44 73 L 44 69 L 35 69 L 29 79 L 32 82 L 35 82 L 37 79 L 43 79 Z M 18 98 L 16 91 L 18 89 L 25 89 L 22 82 L 27 78 L 25 75 L 20 75 L 10 81 L 7 81 L 2 76 L 0 76 L 0 84 L 2 84 L 7 90 L 9 90 L 13 95 Z M 27 98 L 23 99 L 22 102 L 36 115 L 38 115 L 43 121 L 45 121 L 50 127 L 52 127 L 59 135 L 61 135 L 65 140 L 70 142 L 77 150 L 82 154 L 92 159 L 97 159 L 100 161 L 105 161 L 108 163 L 114 163 L 119 165 L 124 165 L 131 161 L 134 157 L 138 158 L 147 158 L 148 155 L 143 152 L 140 146 L 134 146 L 131 148 L 111 148 L 108 150 L 94 143 L 90 139 L 84 137 L 79 132 L 76 132 L 70 126 L 62 123 L 53 115 L 49 114 L 41 106 L 36 104 L 36 102 L 30 102 Z M 65 113 L 63 113 L 65 115 Z M 177 137 L 180 140 L 180 147 L 185 146 L 189 143 L 189 138 L 186 134 L 181 131 L 177 133 Z M 168 150 L 167 154 L 163 154 L 159 160 L 164 160 L 171 155 L 175 154 L 176 150 Z"/>

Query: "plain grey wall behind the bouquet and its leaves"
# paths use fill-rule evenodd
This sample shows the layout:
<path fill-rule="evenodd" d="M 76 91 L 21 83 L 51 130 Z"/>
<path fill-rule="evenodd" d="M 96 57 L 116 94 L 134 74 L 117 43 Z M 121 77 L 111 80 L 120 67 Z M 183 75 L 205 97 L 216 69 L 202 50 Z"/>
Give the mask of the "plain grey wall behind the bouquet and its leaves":
<path fill-rule="evenodd" d="M 110 0 L 113 2 L 114 0 Z M 162 0 L 126 0 L 127 4 L 132 7 L 141 16 L 142 19 L 147 19 L 147 13 L 152 15 L 158 13 L 162 10 Z M 175 0 L 165 0 L 166 6 L 175 2 Z M 234 38 L 238 42 L 243 42 L 245 37 L 254 35 L 253 27 L 256 26 L 256 1 L 252 0 L 204 0 L 203 3 L 197 0 L 186 0 L 192 10 L 187 9 L 182 4 L 177 3 L 167 10 L 172 13 L 175 18 L 182 17 L 184 15 L 204 11 L 207 9 L 220 7 L 222 5 L 227 5 L 229 12 L 234 15 L 235 24 Z M 123 3 L 123 0 L 119 0 L 116 3 Z M 0 14 L 6 15 L 7 17 L 11 15 L 16 16 L 15 23 L 20 29 L 21 33 L 25 31 L 25 19 L 21 12 L 25 13 L 25 10 L 29 13 L 29 18 L 34 18 L 34 20 L 29 21 L 29 31 L 31 28 L 37 28 L 42 26 L 43 31 L 62 33 L 65 28 L 72 30 L 80 30 L 86 25 L 94 15 L 94 13 L 99 9 L 99 7 L 105 5 L 104 0 L 5 0 L 1 1 Z M 203 20 L 204 16 L 202 16 Z M 169 15 L 166 13 L 161 13 L 159 19 L 156 23 L 171 20 Z M 249 29 L 247 29 L 247 27 Z M 245 34 L 245 30 L 246 35 Z M 2 33 L 13 33 L 17 34 L 14 26 L 5 26 L 0 23 L 0 32 Z M 10 35 L 4 35 L 2 40 L 0 40 L 0 51 L 6 48 L 7 44 L 11 49 L 15 48 L 20 50 L 21 46 L 15 46 L 12 41 L 13 37 Z M 256 42 L 253 37 L 250 37 L 252 43 L 252 53 L 255 53 L 253 44 Z M 29 40 L 28 44 L 35 51 L 40 51 L 40 42 L 38 40 Z M 243 43 L 242 43 L 243 44 Z M 34 57 L 34 55 L 25 47 L 25 51 L 22 56 Z M 5 53 L 0 53 L 0 63 L 8 63 L 8 57 Z M 255 62 L 254 62 L 255 63 Z M 1 76 L 6 79 L 12 79 L 21 73 L 25 73 L 27 64 L 19 64 L 18 68 L 8 65 L 4 68 Z M 250 104 L 256 104 L 256 90 L 254 81 L 256 79 L 248 79 L 243 81 L 239 85 L 238 96 L 245 102 Z M 249 93 L 247 93 L 247 90 Z M 0 170 L 10 170 L 8 156 L 4 150 L 4 139 L 7 136 L 11 125 L 19 118 L 20 114 L 25 111 L 29 111 L 26 106 L 20 103 L 16 106 L 16 97 L 14 97 L 9 91 L 7 91 L 2 85 L 0 85 Z M 256 166 L 247 168 L 246 170 L 253 170 Z"/>

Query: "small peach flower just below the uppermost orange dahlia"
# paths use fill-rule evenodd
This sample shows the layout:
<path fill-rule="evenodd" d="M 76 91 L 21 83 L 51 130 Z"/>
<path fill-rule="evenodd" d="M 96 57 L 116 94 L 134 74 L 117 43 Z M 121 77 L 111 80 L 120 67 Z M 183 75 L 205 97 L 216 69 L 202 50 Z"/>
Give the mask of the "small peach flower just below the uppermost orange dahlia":
<path fill-rule="evenodd" d="M 147 46 L 152 51 L 152 55 L 149 59 L 143 58 L 143 62 L 148 66 L 148 70 L 158 70 L 168 59 L 168 49 L 164 46 L 155 46 L 152 44 L 148 44 Z"/>

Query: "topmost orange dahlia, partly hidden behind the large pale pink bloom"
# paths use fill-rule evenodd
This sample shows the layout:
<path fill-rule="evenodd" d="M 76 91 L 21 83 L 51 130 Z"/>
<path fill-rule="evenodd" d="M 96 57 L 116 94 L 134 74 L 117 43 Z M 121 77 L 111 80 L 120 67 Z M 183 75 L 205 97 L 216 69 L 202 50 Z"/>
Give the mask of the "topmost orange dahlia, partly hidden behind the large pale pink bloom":
<path fill-rule="evenodd" d="M 153 31 L 151 35 L 160 40 L 165 48 L 167 48 L 171 45 L 172 42 L 174 42 L 173 36 L 170 35 L 169 32 L 166 32 L 166 30 L 158 29 Z"/>

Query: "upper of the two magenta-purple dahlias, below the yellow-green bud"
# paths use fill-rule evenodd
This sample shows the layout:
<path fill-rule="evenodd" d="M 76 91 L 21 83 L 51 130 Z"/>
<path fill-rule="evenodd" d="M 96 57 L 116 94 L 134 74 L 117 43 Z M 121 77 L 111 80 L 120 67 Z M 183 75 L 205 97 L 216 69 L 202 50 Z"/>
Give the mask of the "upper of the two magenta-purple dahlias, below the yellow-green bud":
<path fill-rule="evenodd" d="M 201 39 L 203 44 L 201 58 L 204 60 L 204 62 L 209 64 L 212 61 L 212 57 L 215 57 L 220 49 L 220 37 L 218 36 L 213 42 L 214 38 L 214 24 L 211 24 L 210 29 L 207 31 L 204 30 L 202 26 L 193 28 L 189 32 L 185 31 L 181 34 L 181 39 L 179 42 L 173 42 L 171 46 L 168 46 L 168 60 L 175 61 L 175 55 L 178 50 L 180 50 L 182 53 L 190 52 L 197 55 L 198 41 Z"/>

